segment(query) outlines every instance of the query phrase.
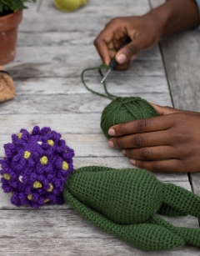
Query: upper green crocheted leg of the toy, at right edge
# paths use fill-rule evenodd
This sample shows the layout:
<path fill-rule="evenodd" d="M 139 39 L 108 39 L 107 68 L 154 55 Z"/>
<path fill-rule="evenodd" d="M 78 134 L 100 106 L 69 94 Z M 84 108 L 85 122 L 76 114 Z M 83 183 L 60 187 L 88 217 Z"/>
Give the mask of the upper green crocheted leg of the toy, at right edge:
<path fill-rule="evenodd" d="M 163 203 L 169 208 L 200 218 L 200 198 L 198 195 L 174 184 L 163 184 Z"/>

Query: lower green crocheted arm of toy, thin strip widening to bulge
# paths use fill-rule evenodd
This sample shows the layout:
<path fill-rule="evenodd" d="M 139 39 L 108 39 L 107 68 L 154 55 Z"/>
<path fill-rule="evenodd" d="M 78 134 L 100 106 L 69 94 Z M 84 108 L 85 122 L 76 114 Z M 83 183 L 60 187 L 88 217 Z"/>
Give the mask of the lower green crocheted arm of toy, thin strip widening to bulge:
<path fill-rule="evenodd" d="M 83 217 L 87 218 L 98 228 L 102 228 L 107 233 L 122 238 L 137 248 L 148 251 L 161 251 L 177 248 L 185 244 L 183 238 L 179 237 L 176 233 L 170 232 L 168 228 L 151 223 L 117 224 L 93 211 L 91 208 L 87 208 L 86 205 L 74 198 L 69 191 L 66 190 L 64 196 L 78 213 L 81 213 Z"/>

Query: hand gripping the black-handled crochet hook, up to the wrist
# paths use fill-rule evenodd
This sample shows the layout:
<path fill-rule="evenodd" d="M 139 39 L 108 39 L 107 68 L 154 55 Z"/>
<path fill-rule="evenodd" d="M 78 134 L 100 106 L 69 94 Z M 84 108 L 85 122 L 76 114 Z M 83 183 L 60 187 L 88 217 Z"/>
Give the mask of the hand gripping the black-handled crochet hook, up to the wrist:
<path fill-rule="evenodd" d="M 116 69 L 126 70 L 136 54 L 144 48 L 153 47 L 162 34 L 163 23 L 157 15 L 148 13 L 141 17 L 113 18 L 97 36 L 94 45 L 103 63 L 109 65 L 116 55 L 119 63 Z M 132 42 L 121 48 L 128 37 Z"/>

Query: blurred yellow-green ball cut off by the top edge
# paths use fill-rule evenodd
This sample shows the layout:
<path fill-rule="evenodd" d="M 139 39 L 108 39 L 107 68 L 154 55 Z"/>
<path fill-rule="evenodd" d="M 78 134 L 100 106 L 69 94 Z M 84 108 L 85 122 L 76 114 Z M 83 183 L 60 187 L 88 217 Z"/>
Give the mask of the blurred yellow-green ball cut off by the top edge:
<path fill-rule="evenodd" d="M 57 9 L 62 12 L 72 12 L 87 3 L 87 0 L 53 0 Z"/>

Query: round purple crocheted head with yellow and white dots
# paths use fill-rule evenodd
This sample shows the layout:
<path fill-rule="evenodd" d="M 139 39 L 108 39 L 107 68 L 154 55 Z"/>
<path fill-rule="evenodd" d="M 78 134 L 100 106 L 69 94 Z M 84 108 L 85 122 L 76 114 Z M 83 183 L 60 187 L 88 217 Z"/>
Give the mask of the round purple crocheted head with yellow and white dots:
<path fill-rule="evenodd" d="M 12 141 L 4 144 L 6 156 L 0 160 L 2 189 L 11 194 L 11 202 L 32 208 L 62 204 L 62 190 L 73 171 L 73 149 L 47 127 L 35 126 L 32 133 L 21 129 Z"/>

